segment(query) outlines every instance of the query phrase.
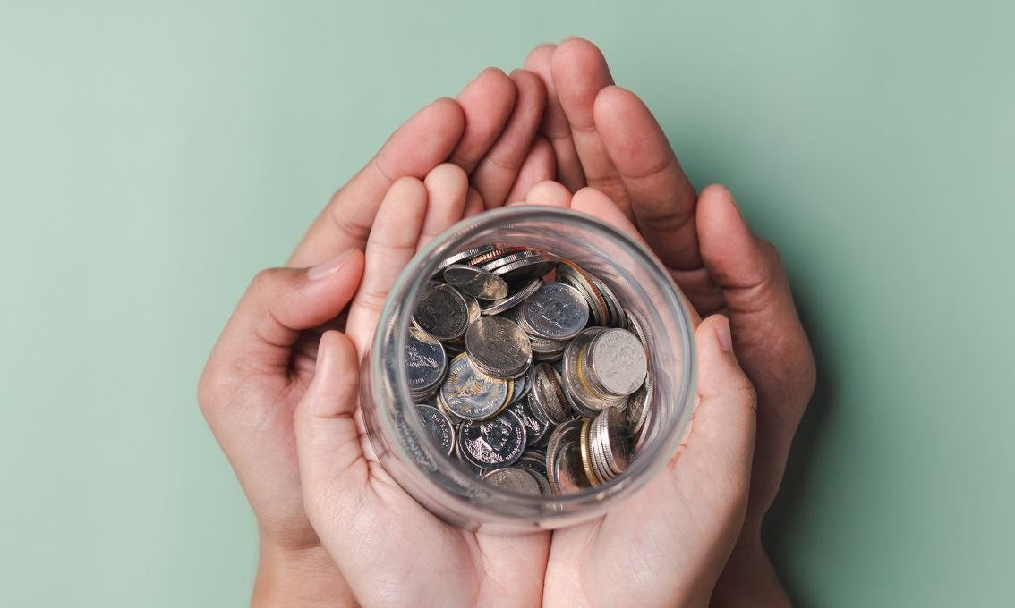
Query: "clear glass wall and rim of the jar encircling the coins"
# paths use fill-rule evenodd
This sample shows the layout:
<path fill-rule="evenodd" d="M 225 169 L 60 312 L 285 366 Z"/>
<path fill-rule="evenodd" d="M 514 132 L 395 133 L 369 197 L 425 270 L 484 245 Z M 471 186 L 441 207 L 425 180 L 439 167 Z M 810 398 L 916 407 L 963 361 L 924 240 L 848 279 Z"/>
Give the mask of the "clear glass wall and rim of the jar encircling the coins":
<path fill-rule="evenodd" d="M 580 493 L 526 497 L 483 482 L 446 456 L 416 415 L 405 353 L 410 316 L 442 260 L 488 243 L 544 249 L 605 282 L 634 314 L 649 345 L 654 382 L 649 435 L 617 478 Z M 437 517 L 495 533 L 560 528 L 603 515 L 635 492 L 673 457 L 690 421 L 694 352 L 690 315 L 669 273 L 628 235 L 578 212 L 513 206 L 456 224 L 427 244 L 398 278 L 362 367 L 361 405 L 385 470 Z"/>

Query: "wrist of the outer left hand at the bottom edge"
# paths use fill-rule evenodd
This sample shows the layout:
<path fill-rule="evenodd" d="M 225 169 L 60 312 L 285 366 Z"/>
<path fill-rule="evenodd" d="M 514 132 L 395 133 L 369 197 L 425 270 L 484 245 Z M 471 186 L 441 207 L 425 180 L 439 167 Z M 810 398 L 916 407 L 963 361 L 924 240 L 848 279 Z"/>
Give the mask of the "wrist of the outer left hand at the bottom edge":
<path fill-rule="evenodd" d="M 285 548 L 262 537 L 253 608 L 356 605 L 323 547 Z"/>

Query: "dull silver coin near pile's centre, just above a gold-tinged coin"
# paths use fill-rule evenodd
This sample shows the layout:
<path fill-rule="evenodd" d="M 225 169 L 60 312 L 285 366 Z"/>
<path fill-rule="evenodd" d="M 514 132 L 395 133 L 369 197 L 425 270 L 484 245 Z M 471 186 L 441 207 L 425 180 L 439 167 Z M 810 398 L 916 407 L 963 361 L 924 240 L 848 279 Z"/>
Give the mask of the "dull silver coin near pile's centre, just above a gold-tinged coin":
<path fill-rule="evenodd" d="M 532 363 L 529 336 L 500 316 L 484 316 L 469 325 L 465 350 L 481 371 L 497 378 L 517 377 Z"/>

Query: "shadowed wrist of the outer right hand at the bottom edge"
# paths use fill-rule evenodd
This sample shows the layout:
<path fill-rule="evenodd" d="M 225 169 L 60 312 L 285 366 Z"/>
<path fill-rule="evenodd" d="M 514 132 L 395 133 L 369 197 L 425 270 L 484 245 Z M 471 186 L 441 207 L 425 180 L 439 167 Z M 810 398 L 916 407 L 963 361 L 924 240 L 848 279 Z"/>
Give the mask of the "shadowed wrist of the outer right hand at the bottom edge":
<path fill-rule="evenodd" d="M 793 606 L 790 595 L 761 544 L 760 533 L 750 534 L 745 531 L 741 534 L 716 584 L 709 605 L 714 608 Z"/>

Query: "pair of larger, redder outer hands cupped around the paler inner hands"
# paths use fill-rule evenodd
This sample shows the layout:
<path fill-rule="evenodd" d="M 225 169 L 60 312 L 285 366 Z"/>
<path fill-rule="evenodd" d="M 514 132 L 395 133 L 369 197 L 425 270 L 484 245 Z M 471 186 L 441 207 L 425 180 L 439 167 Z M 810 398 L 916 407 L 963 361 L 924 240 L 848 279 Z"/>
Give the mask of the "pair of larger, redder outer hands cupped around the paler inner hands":
<path fill-rule="evenodd" d="M 426 176 L 446 160 L 470 177 L 465 215 L 520 201 L 533 184 L 548 178 L 566 187 L 540 184 L 529 195 L 530 202 L 565 206 L 570 192 L 598 185 L 617 202 L 621 215 L 634 219 L 688 299 L 704 314 L 727 314 L 738 357 L 757 389 L 758 437 L 748 512 L 713 602 L 743 603 L 749 597 L 754 605 L 786 603 L 761 547 L 760 523 L 813 391 L 814 364 L 777 254 L 751 234 L 725 188 L 709 186 L 695 196 L 655 119 L 632 93 L 612 86 L 602 55 L 590 43 L 569 39 L 541 46 L 526 68 L 545 89 L 538 134 L 509 127 L 516 116 L 532 115 L 516 110 L 518 99 L 523 104 L 539 99 L 538 93 L 518 92 L 519 80 L 527 86 L 532 79 L 485 70 L 457 101 L 438 99 L 396 132 L 335 194 L 287 265 L 308 267 L 361 250 L 391 185 L 404 176 Z M 512 141 L 499 144 L 504 137 Z M 532 147 L 518 162 L 526 139 Z M 497 162 L 486 165 L 517 165 L 517 174 L 488 168 L 476 179 L 477 167 L 494 147 L 502 152 Z M 507 194 L 503 201 L 485 201 L 480 185 L 487 193 Z M 577 208 L 584 198 L 577 197 Z M 432 233 L 432 226 L 425 231 Z M 351 270 L 342 272 L 355 274 L 363 261 L 351 255 L 346 261 Z M 202 375 L 199 400 L 258 517 L 262 551 L 254 603 L 351 602 L 299 500 L 291 423 L 295 403 L 313 377 L 321 335 L 344 328 L 346 317 L 341 299 L 333 299 L 329 306 L 334 315 L 324 311 L 279 318 L 272 310 L 277 296 L 272 289 L 277 288 L 265 285 L 273 274 L 284 275 L 276 270 L 259 276 L 238 306 Z M 338 320 L 324 320 L 335 315 Z M 252 321 L 258 317 L 270 317 L 284 328 L 285 339 L 264 329 L 271 323 Z"/>

